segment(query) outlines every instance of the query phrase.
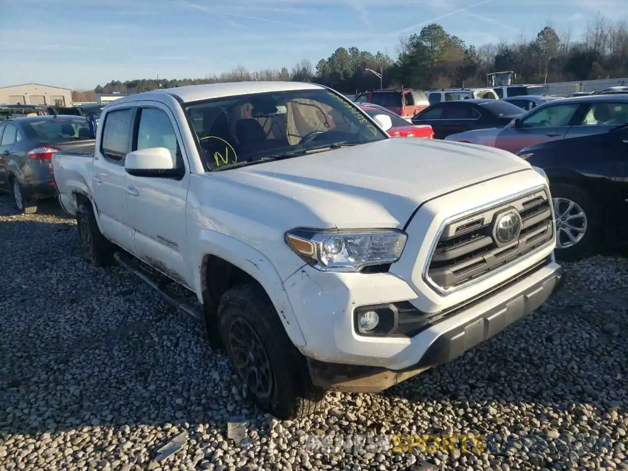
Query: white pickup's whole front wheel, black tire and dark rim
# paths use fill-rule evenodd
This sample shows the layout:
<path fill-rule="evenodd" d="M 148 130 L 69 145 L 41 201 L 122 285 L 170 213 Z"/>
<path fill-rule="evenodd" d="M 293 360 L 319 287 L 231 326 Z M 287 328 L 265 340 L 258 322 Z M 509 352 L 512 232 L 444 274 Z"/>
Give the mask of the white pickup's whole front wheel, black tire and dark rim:
<path fill-rule="evenodd" d="M 234 370 L 257 405 L 280 420 L 317 411 L 325 393 L 313 386 L 305 357 L 284 330 L 261 286 L 231 288 L 218 309 L 219 331 Z"/>

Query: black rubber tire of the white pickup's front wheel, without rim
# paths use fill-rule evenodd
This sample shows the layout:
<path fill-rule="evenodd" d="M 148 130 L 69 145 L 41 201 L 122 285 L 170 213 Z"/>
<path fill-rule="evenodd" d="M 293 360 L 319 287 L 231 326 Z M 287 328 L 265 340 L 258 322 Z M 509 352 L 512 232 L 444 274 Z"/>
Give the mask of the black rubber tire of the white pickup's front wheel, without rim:
<path fill-rule="evenodd" d="M 235 371 L 230 329 L 238 318 L 247 322 L 261 340 L 273 372 L 273 391 L 269 399 L 250 393 L 257 405 L 279 420 L 305 417 L 320 409 L 325 391 L 312 384 L 305 357 L 290 341 L 273 303 L 258 284 L 231 288 L 220 300 L 220 337 Z"/>

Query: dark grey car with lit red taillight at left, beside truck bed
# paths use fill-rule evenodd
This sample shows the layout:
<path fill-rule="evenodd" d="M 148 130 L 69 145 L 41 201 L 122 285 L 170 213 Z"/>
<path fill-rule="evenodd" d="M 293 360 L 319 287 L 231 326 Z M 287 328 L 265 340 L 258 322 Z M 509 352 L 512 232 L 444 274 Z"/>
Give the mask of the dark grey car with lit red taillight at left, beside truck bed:
<path fill-rule="evenodd" d="M 13 193 L 16 208 L 36 212 L 36 200 L 57 197 L 52 154 L 94 148 L 85 117 L 32 116 L 0 123 L 0 191 Z"/>

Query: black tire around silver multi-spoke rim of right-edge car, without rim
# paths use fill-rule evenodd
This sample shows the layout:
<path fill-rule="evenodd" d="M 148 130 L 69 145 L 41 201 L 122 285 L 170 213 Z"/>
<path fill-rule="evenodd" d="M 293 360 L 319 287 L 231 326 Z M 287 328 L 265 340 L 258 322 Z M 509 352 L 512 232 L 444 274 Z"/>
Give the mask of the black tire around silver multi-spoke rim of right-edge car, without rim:
<path fill-rule="evenodd" d="M 569 183 L 551 183 L 549 186 L 552 198 L 566 198 L 577 203 L 587 216 L 587 232 L 580 242 L 565 249 L 556 247 L 556 258 L 561 260 L 576 260 L 595 251 L 598 248 L 602 235 L 600 225 L 600 207 L 597 202 L 582 188 Z M 556 228 L 558 237 L 558 227 Z"/>

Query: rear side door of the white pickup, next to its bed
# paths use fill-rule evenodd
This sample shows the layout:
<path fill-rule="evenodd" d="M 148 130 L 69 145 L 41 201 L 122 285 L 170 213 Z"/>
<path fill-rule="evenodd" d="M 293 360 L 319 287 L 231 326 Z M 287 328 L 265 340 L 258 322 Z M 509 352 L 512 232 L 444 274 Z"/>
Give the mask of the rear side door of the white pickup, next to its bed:
<path fill-rule="evenodd" d="M 124 159 L 131 149 L 134 109 L 109 111 L 102 124 L 100 148 L 95 149 L 92 189 L 102 233 L 127 251 L 133 251 L 133 229 L 124 186 Z"/>

